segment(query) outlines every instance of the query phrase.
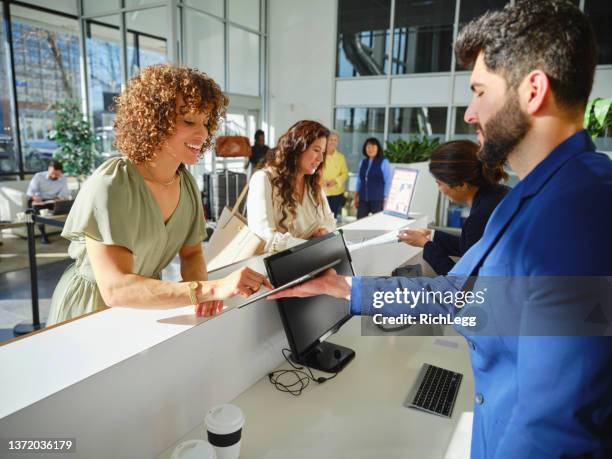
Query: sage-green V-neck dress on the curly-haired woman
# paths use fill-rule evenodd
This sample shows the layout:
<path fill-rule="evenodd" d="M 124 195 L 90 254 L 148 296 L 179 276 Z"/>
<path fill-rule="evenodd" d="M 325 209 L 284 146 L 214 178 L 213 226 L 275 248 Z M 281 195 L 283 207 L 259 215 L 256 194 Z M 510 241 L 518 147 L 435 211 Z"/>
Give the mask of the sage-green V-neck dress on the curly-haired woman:
<path fill-rule="evenodd" d="M 183 166 L 179 176 L 179 202 L 166 223 L 149 187 L 127 158 L 109 159 L 87 179 L 62 231 L 71 241 L 68 254 L 75 262 L 66 268 L 53 292 L 47 325 L 106 308 L 85 250 L 85 237 L 125 247 L 134 256 L 134 274 L 156 279 L 182 246 L 204 240 L 200 191 Z"/>

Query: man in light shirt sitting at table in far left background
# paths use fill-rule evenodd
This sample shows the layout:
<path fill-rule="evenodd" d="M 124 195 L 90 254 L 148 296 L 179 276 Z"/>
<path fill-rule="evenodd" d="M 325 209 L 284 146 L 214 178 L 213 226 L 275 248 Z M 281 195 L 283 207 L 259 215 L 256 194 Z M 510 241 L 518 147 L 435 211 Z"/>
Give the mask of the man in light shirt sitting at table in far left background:
<path fill-rule="evenodd" d="M 47 207 L 45 201 L 72 199 L 62 163 L 51 161 L 46 171 L 34 174 L 26 194 L 28 196 L 28 207 L 34 207 L 37 213 L 40 209 Z M 45 225 L 39 225 L 38 228 L 40 229 L 40 242 L 48 244 L 49 238 L 45 232 Z"/>

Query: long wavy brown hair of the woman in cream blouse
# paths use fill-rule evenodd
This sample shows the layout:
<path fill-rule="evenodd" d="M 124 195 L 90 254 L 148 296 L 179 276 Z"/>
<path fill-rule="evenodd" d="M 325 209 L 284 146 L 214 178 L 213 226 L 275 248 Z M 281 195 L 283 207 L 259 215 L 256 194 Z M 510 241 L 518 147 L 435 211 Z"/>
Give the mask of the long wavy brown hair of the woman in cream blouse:
<path fill-rule="evenodd" d="M 285 231 L 289 231 L 289 216 L 291 220 L 296 217 L 297 202 L 294 197 L 298 160 L 300 155 L 317 139 L 329 137 L 329 129 L 321 123 L 310 120 L 298 121 L 285 132 L 275 148 L 266 155 L 265 166 L 272 170 L 270 177 L 272 189 L 281 200 L 278 204 L 283 214 L 279 225 Z M 327 157 L 327 151 L 323 155 L 323 161 L 312 175 L 304 176 L 304 192 L 310 193 L 313 201 L 322 208 L 321 198 L 321 175 L 323 163 Z"/>

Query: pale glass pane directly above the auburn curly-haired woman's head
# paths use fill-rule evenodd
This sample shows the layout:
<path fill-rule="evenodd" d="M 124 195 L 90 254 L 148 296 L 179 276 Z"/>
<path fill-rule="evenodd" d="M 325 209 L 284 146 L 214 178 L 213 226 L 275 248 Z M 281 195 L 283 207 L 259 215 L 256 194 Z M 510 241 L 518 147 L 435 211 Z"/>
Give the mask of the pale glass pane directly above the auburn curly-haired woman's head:
<path fill-rule="evenodd" d="M 185 64 L 210 75 L 225 90 L 223 22 L 185 8 L 183 55 Z"/>

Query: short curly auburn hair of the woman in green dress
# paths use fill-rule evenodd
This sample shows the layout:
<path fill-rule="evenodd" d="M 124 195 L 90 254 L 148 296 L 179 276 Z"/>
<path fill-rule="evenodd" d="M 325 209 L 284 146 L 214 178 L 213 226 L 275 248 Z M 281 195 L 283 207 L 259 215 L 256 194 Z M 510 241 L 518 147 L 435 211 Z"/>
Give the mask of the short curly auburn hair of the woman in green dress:
<path fill-rule="evenodd" d="M 144 67 L 115 99 L 115 145 L 136 164 L 151 161 L 165 140 L 176 130 L 177 100 L 182 96 L 181 114 L 209 112 L 209 149 L 228 99 L 205 73 L 187 67 L 158 64 Z"/>

